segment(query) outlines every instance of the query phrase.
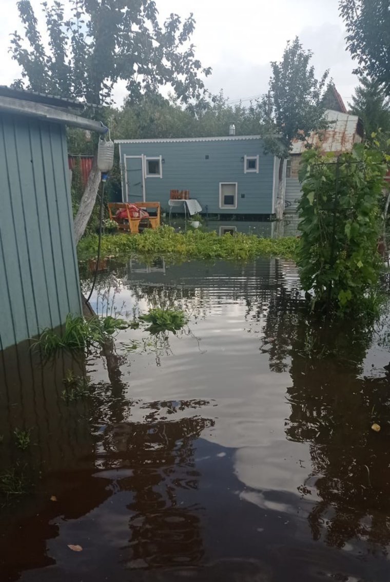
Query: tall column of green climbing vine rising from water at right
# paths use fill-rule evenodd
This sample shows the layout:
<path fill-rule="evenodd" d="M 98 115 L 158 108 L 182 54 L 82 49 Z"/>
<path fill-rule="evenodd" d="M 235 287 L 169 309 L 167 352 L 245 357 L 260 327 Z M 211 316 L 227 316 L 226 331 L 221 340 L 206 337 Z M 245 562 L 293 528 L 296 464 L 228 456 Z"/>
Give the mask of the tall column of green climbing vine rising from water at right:
<path fill-rule="evenodd" d="M 358 310 L 375 289 L 383 177 L 380 151 L 356 144 L 352 153 L 303 154 L 300 172 L 298 265 L 313 304 L 341 312 Z"/>

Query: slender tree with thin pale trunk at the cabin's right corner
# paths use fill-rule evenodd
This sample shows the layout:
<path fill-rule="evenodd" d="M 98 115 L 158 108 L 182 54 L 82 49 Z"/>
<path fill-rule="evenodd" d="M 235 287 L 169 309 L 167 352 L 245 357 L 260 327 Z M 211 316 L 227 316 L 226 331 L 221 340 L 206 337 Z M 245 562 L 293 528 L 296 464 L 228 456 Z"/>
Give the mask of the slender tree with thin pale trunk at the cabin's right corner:
<path fill-rule="evenodd" d="M 292 141 L 305 141 L 316 130 L 326 127 L 323 102 L 326 71 L 316 79 L 310 66 L 312 51 L 305 51 L 299 38 L 288 42 L 282 61 L 271 62 L 270 92 L 262 101 L 266 150 L 280 158 L 276 218 L 284 212 L 283 166 Z"/>

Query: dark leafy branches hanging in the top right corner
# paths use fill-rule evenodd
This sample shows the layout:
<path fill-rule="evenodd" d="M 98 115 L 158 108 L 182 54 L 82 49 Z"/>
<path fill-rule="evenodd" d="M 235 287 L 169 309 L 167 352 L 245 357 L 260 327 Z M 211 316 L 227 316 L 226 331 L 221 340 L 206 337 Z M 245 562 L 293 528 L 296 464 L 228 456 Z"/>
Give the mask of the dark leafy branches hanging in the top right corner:
<path fill-rule="evenodd" d="M 388 0 L 340 0 L 346 44 L 358 63 L 354 73 L 383 84 L 390 95 L 390 10 Z"/>

